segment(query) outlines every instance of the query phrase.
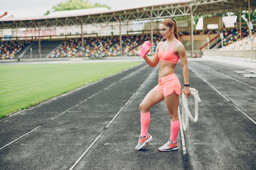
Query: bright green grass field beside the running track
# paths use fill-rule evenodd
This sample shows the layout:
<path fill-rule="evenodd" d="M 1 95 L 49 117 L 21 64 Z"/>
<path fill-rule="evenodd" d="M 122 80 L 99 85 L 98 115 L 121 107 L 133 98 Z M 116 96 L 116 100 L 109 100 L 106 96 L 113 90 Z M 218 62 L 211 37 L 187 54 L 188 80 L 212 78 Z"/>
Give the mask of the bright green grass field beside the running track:
<path fill-rule="evenodd" d="M 0 119 L 140 62 L 0 65 Z"/>

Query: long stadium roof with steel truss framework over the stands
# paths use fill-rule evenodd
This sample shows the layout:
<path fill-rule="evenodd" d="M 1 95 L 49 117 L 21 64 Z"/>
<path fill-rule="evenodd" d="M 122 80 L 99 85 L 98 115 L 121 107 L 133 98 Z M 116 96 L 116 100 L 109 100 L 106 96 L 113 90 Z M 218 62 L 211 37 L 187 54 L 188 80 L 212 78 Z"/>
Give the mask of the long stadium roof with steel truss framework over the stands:
<path fill-rule="evenodd" d="M 249 5 L 250 2 L 250 5 Z M 205 13 L 225 13 L 256 9 L 256 0 L 179 0 L 167 4 L 156 4 L 132 9 L 90 10 L 81 13 L 65 13 L 31 18 L 0 18 L 0 29 L 46 28 L 79 24 L 99 24 L 110 22 L 131 22 L 138 20 L 175 18 L 177 16 L 202 15 Z"/>

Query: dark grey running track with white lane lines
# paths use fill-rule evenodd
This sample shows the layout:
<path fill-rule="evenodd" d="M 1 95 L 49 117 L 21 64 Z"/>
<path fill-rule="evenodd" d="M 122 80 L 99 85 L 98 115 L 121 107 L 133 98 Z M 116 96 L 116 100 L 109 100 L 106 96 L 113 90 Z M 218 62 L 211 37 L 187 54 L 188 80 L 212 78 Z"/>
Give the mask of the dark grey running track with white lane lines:
<path fill-rule="evenodd" d="M 202 102 L 180 130 L 179 149 L 159 152 L 170 136 L 163 102 L 151 108 L 141 151 L 139 103 L 157 84 L 145 62 L 0 120 L 0 170 L 253 170 L 256 169 L 256 78 L 234 71 L 256 62 L 189 58 L 189 78 Z M 175 69 L 183 84 L 180 62 Z M 193 96 L 189 97 L 193 112 Z M 180 110 L 182 100 L 180 98 Z"/>

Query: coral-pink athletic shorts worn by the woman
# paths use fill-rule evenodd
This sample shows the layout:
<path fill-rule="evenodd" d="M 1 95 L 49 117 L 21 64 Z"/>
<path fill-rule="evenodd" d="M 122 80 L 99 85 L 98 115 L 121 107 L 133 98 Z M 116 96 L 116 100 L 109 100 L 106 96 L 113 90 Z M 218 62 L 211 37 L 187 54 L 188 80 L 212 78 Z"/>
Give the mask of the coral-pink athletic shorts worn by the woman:
<path fill-rule="evenodd" d="M 159 78 L 158 84 L 154 87 L 154 89 L 163 93 L 164 96 L 173 94 L 173 91 L 175 91 L 177 95 L 180 95 L 181 85 L 175 73 L 171 73 Z"/>

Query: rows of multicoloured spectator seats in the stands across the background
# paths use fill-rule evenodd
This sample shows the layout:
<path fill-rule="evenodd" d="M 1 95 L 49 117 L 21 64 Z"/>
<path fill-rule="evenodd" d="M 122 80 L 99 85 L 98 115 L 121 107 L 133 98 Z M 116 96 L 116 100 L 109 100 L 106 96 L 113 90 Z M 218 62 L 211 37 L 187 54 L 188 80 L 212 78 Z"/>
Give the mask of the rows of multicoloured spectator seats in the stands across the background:
<path fill-rule="evenodd" d="M 248 38 L 249 30 L 242 29 L 242 39 L 240 40 L 240 30 L 236 28 L 222 29 L 224 35 L 223 45 L 225 48 L 221 50 L 256 50 L 256 30 L 253 31 L 254 37 L 252 41 Z M 195 35 L 219 33 L 217 30 L 194 31 Z M 189 32 L 180 32 L 181 36 L 189 35 Z M 104 56 L 118 56 L 120 55 L 120 37 L 119 36 L 105 36 L 105 37 L 86 37 L 84 38 L 83 52 L 86 57 L 104 57 Z M 137 55 L 137 51 L 145 40 L 150 40 L 150 34 L 141 35 L 122 35 L 122 53 L 127 56 Z M 240 40 L 240 41 L 239 41 Z M 153 51 L 154 53 L 157 43 L 164 41 L 160 34 L 153 35 Z M 235 43 L 236 42 L 236 43 Z M 252 42 L 252 43 L 251 43 Z M 3 41 L 0 42 L 0 59 L 15 58 L 22 49 L 31 43 L 31 40 L 19 41 Z M 41 57 L 81 57 L 81 38 L 72 38 L 68 40 L 41 40 Z M 217 48 L 221 47 L 221 42 L 217 43 Z M 31 43 L 32 57 L 38 57 L 38 42 Z M 27 49 L 23 58 L 30 58 L 30 50 Z"/>

